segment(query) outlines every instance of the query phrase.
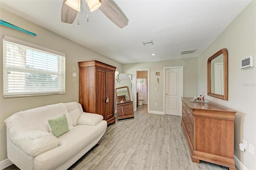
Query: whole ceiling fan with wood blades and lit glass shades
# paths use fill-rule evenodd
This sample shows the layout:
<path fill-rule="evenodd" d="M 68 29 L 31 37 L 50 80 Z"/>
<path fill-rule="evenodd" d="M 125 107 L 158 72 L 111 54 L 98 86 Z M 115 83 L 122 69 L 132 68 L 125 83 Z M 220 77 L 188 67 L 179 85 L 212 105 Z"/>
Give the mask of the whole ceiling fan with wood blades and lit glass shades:
<path fill-rule="evenodd" d="M 128 19 L 122 10 L 113 0 L 86 0 L 90 11 L 100 8 L 114 24 L 119 28 L 128 25 Z M 80 0 L 64 0 L 61 11 L 61 21 L 72 24 L 76 18 L 76 14 L 80 11 Z"/>

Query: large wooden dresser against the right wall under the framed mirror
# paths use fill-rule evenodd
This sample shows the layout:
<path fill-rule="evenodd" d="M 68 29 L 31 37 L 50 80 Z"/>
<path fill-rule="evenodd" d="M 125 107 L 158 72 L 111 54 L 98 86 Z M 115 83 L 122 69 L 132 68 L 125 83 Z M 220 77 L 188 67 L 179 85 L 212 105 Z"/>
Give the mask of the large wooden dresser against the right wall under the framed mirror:
<path fill-rule="evenodd" d="M 234 119 L 236 111 L 212 102 L 182 99 L 181 125 L 192 162 L 200 160 L 235 169 Z"/>

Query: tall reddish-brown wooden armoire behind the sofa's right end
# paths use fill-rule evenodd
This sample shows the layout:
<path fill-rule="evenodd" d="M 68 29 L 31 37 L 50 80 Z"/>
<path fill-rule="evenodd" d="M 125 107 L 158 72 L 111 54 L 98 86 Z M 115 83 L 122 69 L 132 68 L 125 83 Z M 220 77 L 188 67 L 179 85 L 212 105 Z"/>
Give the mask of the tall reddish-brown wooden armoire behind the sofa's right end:
<path fill-rule="evenodd" d="M 81 61 L 79 64 L 79 103 L 84 112 L 96 113 L 115 123 L 116 67 L 100 61 Z"/>

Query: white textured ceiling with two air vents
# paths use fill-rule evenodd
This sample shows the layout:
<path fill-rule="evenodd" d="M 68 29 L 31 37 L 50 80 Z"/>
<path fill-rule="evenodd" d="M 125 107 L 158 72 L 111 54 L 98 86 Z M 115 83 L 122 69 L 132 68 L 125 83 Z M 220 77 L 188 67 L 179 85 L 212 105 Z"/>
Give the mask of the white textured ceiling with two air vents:
<path fill-rule="evenodd" d="M 251 0 L 114 0 L 129 20 L 122 29 L 99 9 L 87 22 L 81 1 L 80 25 L 61 22 L 63 0 L 0 0 L 0 8 L 119 63 L 138 63 L 198 57 Z M 148 40 L 154 44 L 144 46 Z M 188 49 L 196 52 L 180 55 Z"/>

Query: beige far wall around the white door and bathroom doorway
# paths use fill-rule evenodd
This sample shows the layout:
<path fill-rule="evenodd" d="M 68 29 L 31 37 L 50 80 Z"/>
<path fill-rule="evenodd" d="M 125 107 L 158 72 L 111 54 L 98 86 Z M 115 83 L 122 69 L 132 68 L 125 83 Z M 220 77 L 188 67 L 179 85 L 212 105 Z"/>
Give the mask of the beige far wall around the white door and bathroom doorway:
<path fill-rule="evenodd" d="M 150 108 L 149 111 L 163 112 L 164 105 L 164 77 L 163 71 L 164 67 L 174 67 L 174 66 L 184 66 L 183 67 L 183 97 L 194 97 L 198 95 L 197 83 L 198 83 L 198 57 L 186 58 L 186 59 L 174 59 L 167 61 L 156 61 L 156 62 L 145 62 L 145 63 L 132 63 L 123 64 L 123 73 L 132 74 L 135 77 L 135 69 L 150 69 Z M 160 72 L 160 76 L 156 76 L 156 72 Z M 157 83 L 157 78 L 159 78 L 159 84 Z M 132 95 L 134 97 L 135 80 L 132 79 Z M 155 90 L 157 88 L 157 91 Z M 201 92 L 200 92 L 201 94 Z M 155 103 L 158 103 L 156 106 Z"/>

